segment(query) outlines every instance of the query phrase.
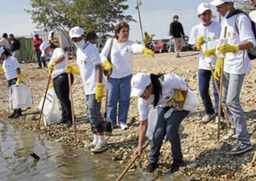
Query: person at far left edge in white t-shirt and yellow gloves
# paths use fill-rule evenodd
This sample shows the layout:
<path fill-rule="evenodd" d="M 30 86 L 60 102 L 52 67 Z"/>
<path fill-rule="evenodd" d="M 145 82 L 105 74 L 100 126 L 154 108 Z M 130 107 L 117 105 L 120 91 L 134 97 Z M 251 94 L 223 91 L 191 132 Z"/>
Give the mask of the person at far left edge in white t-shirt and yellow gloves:
<path fill-rule="evenodd" d="M 8 87 L 14 84 L 21 84 L 21 66 L 18 60 L 3 47 L 0 47 L 0 62 L 3 62 L 2 67 L 0 67 L 0 73 L 5 73 Z M 14 109 L 8 118 L 16 119 L 19 116 L 21 116 L 21 109 Z"/>

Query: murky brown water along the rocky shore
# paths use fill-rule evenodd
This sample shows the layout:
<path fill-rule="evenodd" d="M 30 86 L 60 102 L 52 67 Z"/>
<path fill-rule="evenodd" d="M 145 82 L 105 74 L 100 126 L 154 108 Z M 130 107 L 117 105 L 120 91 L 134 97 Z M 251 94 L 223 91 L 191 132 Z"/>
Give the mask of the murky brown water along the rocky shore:
<path fill-rule="evenodd" d="M 29 154 L 32 152 L 40 160 L 31 157 Z M 91 155 L 84 149 L 71 150 L 58 142 L 46 141 L 35 132 L 14 128 L 0 121 L 1 181 L 112 181 L 122 170 L 111 160 L 110 153 Z M 123 180 L 152 181 L 155 178 L 155 175 L 136 171 L 128 172 Z M 160 180 L 172 179 L 163 177 Z"/>

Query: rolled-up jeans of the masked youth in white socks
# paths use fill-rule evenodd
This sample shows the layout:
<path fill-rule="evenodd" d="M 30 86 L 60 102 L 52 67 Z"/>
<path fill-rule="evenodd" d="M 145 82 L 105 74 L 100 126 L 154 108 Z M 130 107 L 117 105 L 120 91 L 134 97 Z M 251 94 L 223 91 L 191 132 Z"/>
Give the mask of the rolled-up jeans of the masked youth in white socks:
<path fill-rule="evenodd" d="M 95 100 L 95 94 L 85 95 L 87 102 L 87 115 L 93 133 L 104 132 L 103 119 L 100 114 L 101 102 Z"/>

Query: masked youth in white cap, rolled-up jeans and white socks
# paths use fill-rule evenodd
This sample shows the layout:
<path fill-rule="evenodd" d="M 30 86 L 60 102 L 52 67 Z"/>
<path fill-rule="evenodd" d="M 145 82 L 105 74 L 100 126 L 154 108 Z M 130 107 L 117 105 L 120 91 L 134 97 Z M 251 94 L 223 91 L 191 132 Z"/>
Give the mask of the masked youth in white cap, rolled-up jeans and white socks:
<path fill-rule="evenodd" d="M 101 100 L 104 97 L 106 80 L 103 76 L 100 54 L 96 46 L 85 41 L 84 30 L 73 27 L 69 30 L 69 37 L 76 46 L 76 64 L 78 66 L 66 66 L 66 72 L 81 75 L 87 102 L 87 115 L 91 124 L 94 139 L 85 147 L 93 153 L 105 151 L 107 141 L 104 137 L 103 119 L 100 114 Z"/>

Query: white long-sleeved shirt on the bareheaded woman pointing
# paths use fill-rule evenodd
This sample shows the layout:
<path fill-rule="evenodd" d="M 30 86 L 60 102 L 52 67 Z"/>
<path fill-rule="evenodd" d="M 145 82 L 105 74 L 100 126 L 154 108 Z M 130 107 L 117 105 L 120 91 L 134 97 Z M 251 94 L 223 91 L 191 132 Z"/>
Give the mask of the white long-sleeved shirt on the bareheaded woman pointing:
<path fill-rule="evenodd" d="M 102 62 L 107 59 L 111 45 L 111 38 L 107 40 L 100 53 Z M 113 68 L 111 78 L 123 78 L 133 73 L 133 54 L 142 53 L 142 44 L 127 40 L 119 43 L 116 38 L 113 40 L 111 49 L 111 66 Z"/>

